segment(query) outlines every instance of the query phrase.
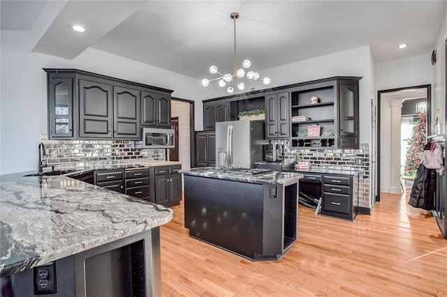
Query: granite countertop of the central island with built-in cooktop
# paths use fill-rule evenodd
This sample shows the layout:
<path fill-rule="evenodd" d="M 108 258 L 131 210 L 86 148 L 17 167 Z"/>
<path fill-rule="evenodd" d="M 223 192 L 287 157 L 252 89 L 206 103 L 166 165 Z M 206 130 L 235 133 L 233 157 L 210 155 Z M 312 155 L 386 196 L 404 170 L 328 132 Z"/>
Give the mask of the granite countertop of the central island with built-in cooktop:
<path fill-rule="evenodd" d="M 219 178 L 230 181 L 242 181 L 244 183 L 272 183 L 283 184 L 298 182 L 302 174 L 294 172 L 265 172 L 255 175 L 237 174 L 232 172 L 223 172 L 216 167 L 197 167 L 191 169 L 179 170 L 179 173 L 191 176 L 200 176 L 208 178 Z"/>

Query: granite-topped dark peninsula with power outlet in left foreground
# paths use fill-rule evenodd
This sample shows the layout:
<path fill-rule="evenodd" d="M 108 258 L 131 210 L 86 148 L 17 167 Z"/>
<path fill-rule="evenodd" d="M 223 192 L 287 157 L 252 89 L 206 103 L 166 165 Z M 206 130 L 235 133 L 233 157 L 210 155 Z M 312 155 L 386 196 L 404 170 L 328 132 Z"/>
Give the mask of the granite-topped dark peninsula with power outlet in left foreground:
<path fill-rule="evenodd" d="M 172 220 L 170 208 L 24 174 L 0 176 L 3 294 L 161 296 L 159 226 Z"/>

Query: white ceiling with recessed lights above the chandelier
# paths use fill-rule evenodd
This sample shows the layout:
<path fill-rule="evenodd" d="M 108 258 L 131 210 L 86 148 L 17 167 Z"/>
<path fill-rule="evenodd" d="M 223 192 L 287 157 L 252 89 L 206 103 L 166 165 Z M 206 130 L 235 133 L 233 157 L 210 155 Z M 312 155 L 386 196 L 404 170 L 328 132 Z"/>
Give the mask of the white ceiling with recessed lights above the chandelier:
<path fill-rule="evenodd" d="M 34 47 L 73 59 L 87 47 L 172 70 L 210 77 L 216 65 L 233 70 L 237 11 L 238 63 L 263 70 L 371 45 L 376 63 L 434 49 L 447 1 L 4 1 L 1 29 L 30 30 L 54 2 L 64 8 Z M 13 17 L 11 17 L 13 15 Z M 71 31 L 82 24 L 85 33 Z M 397 45 L 408 43 L 405 50 Z"/>

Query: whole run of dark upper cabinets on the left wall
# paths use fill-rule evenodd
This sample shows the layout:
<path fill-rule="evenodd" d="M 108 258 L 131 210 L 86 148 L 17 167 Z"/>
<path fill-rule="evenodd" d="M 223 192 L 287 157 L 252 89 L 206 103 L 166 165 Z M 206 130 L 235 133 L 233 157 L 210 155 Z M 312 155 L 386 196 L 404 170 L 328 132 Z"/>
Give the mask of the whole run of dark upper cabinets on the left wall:
<path fill-rule="evenodd" d="M 170 127 L 170 90 L 76 69 L 44 70 L 50 139 L 140 139 L 142 125 Z"/>

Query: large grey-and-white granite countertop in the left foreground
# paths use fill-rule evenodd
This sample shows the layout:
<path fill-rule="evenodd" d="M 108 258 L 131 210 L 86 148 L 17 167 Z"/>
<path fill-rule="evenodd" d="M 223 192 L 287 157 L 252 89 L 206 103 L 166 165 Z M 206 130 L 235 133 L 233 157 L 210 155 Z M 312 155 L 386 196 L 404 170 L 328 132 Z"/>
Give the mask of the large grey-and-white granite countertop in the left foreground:
<path fill-rule="evenodd" d="M 67 176 L 0 176 L 0 276 L 159 227 L 170 208 Z"/>

